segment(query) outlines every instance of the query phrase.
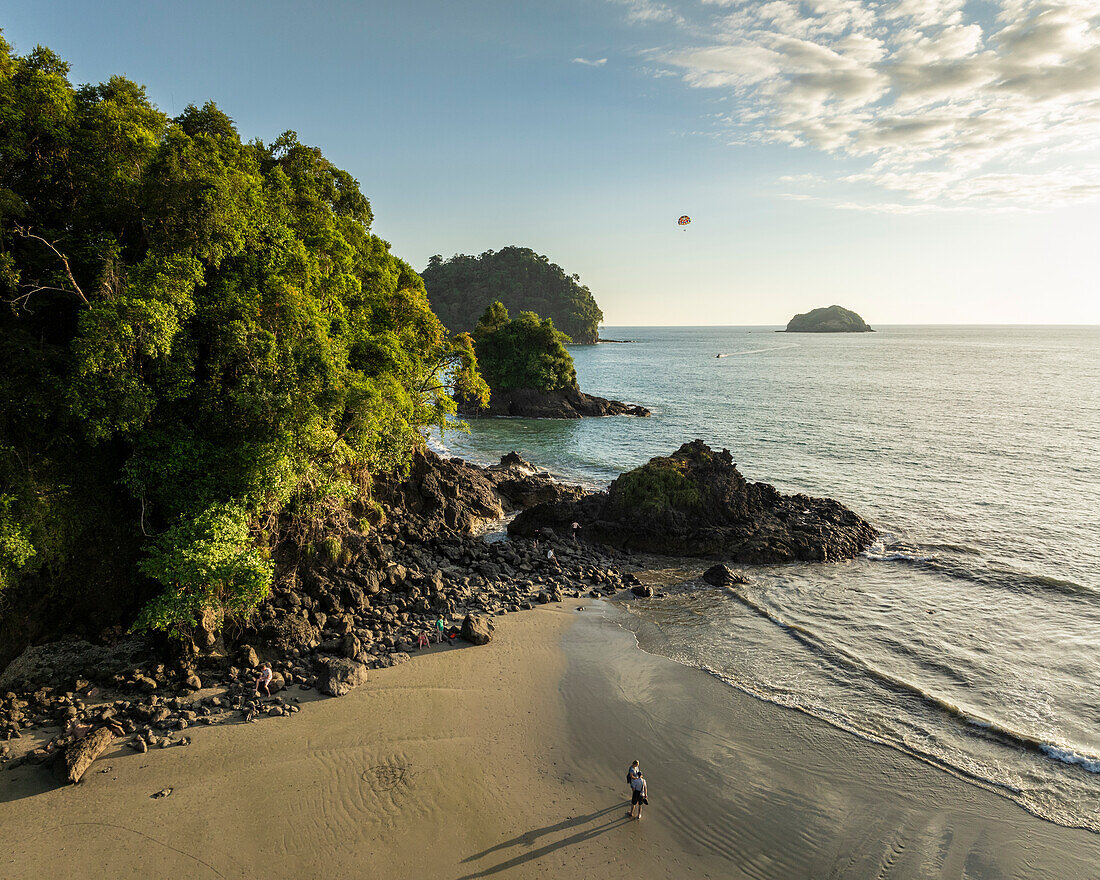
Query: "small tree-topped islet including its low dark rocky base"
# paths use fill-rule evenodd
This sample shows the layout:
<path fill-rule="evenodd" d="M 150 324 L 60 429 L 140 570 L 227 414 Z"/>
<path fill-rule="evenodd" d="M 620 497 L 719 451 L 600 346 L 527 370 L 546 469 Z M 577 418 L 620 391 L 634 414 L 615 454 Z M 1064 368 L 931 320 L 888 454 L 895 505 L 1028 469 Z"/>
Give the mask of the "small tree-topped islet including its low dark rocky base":
<path fill-rule="evenodd" d="M 553 320 L 521 311 L 513 320 L 502 302 L 493 302 L 473 332 L 477 366 L 490 387 L 487 406 L 459 396 L 464 416 L 514 416 L 579 419 L 583 416 L 648 416 L 641 406 L 584 394 L 576 384 L 569 337 Z"/>

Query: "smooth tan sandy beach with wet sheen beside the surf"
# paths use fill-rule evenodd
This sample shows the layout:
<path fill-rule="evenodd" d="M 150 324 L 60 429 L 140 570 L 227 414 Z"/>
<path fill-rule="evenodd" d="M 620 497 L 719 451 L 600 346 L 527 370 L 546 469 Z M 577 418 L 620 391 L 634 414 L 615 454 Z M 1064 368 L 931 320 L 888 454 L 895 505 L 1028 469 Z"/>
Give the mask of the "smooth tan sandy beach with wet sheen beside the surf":
<path fill-rule="evenodd" d="M 290 718 L 116 749 L 77 787 L 0 773 L 0 877 L 1100 875 L 1100 837 L 646 654 L 619 612 L 579 607 L 499 618 L 487 647 Z"/>

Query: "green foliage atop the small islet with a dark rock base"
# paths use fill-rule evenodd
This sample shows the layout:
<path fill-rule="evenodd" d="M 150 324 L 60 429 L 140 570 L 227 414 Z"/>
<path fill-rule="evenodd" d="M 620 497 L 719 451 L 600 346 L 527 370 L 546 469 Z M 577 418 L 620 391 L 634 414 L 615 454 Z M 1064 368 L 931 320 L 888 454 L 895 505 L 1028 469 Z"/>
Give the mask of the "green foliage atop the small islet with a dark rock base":
<path fill-rule="evenodd" d="M 565 342 L 569 337 L 556 330 L 549 318 L 521 311 L 512 320 L 499 302 L 485 309 L 474 329 L 477 365 L 494 392 L 576 388 L 576 371 Z"/>

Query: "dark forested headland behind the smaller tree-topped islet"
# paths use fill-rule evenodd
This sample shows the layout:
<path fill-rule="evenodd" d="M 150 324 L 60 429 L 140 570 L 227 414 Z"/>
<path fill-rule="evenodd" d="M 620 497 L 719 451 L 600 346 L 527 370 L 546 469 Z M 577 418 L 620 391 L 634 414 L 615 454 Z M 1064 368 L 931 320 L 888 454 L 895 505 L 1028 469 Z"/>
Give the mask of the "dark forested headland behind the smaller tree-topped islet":
<path fill-rule="evenodd" d="M 512 312 L 550 318 L 573 342 L 594 344 L 604 314 L 578 275 L 566 275 L 530 248 L 503 248 L 481 256 L 431 257 L 420 273 L 428 299 L 451 332 L 472 331 L 485 309 L 502 302 Z"/>

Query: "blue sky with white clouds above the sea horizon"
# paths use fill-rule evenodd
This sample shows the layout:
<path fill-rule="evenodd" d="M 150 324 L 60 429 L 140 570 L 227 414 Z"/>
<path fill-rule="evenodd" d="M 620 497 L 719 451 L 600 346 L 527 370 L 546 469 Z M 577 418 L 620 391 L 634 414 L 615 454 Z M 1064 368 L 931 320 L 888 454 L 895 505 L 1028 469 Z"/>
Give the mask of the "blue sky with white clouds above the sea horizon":
<path fill-rule="evenodd" d="M 528 246 L 609 326 L 1100 323 L 1100 0 L 51 0 L 0 29 L 74 82 L 293 129 L 415 268 Z"/>

